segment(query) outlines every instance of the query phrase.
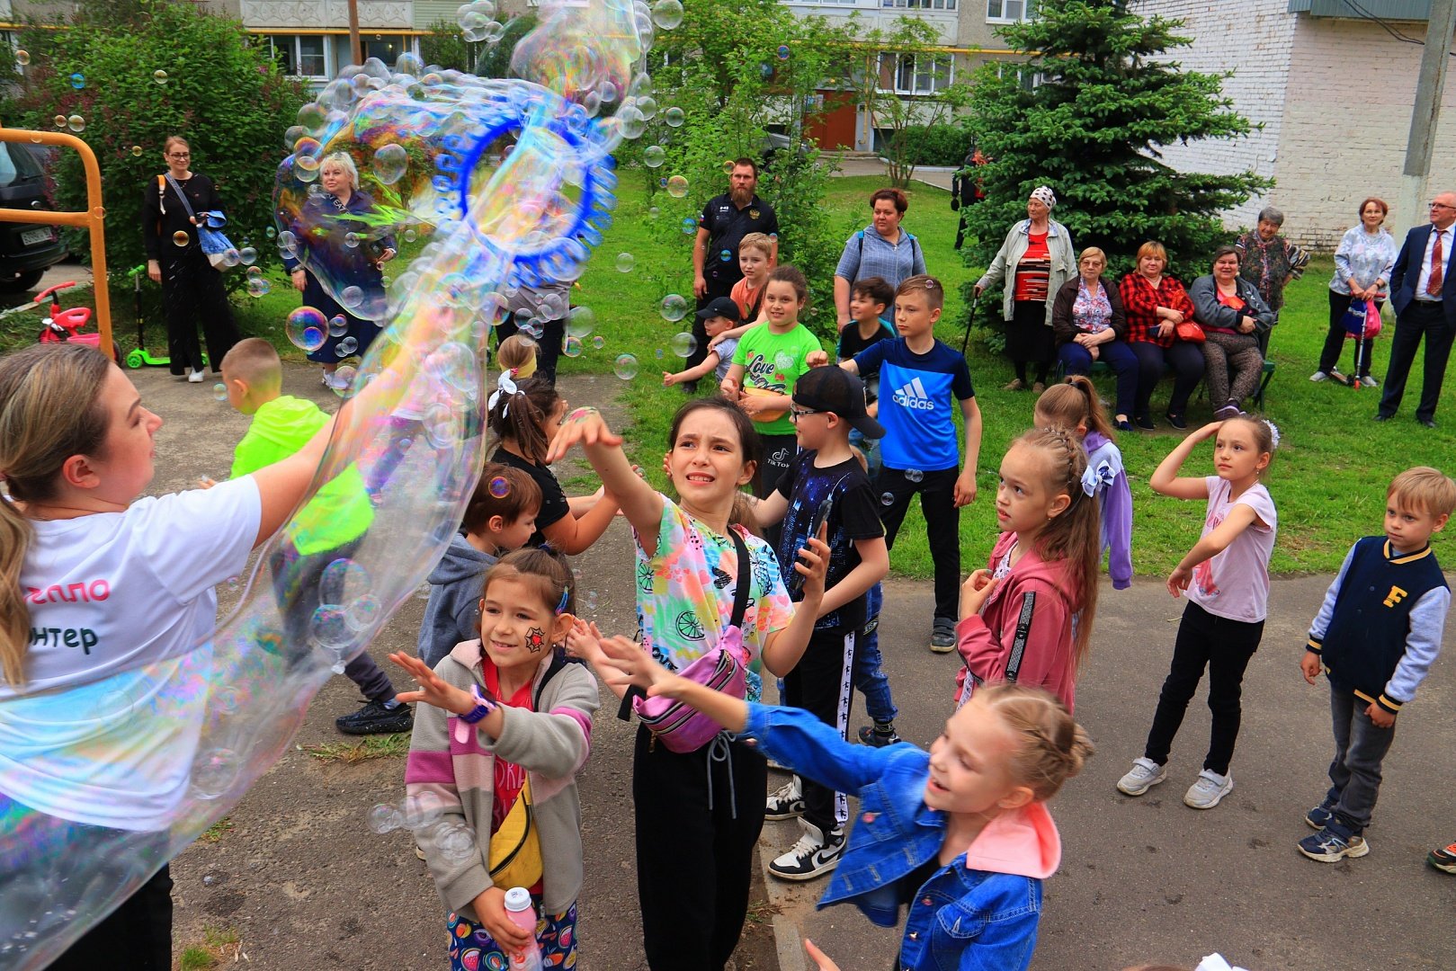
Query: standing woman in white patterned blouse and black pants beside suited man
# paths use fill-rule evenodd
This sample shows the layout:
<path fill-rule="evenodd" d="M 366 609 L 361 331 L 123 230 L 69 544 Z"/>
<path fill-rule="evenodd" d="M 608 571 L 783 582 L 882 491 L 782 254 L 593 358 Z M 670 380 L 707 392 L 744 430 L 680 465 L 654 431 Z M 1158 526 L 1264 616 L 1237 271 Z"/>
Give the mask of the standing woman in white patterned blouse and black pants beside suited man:
<path fill-rule="evenodd" d="M 1312 381 L 1329 379 L 1341 384 L 1354 386 L 1354 381 L 1360 381 L 1366 387 L 1380 386 L 1370 377 L 1373 339 L 1361 341 L 1356 349 L 1357 367 L 1353 379 L 1347 379 L 1335 365 L 1340 364 L 1340 352 L 1348 336 L 1344 316 L 1350 301 L 1374 300 L 1377 309 L 1385 304 L 1390 268 L 1395 265 L 1396 253 L 1401 252 L 1401 245 L 1385 229 L 1389 211 L 1390 207 L 1385 199 L 1370 197 L 1360 204 L 1360 226 L 1351 227 L 1340 239 L 1340 247 L 1335 250 L 1335 275 L 1329 278 L 1329 333 L 1325 335 L 1325 348 L 1319 352 L 1319 370 L 1309 376 Z"/>

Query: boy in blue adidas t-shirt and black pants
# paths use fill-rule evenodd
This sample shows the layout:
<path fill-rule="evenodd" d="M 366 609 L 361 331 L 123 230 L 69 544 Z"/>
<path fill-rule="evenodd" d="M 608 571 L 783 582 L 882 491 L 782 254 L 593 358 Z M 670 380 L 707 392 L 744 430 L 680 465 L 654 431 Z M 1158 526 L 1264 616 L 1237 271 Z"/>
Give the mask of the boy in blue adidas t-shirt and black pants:
<path fill-rule="evenodd" d="M 910 499 L 920 494 L 935 563 L 930 649 L 955 649 L 961 584 L 961 507 L 976 498 L 981 409 L 965 358 L 935 339 L 945 290 L 935 277 L 911 277 L 895 290 L 894 341 L 872 344 L 840 364 L 852 374 L 879 374 L 881 469 L 875 479 L 885 543 L 895 544 Z M 965 454 L 957 450 L 952 399 L 965 418 Z"/>

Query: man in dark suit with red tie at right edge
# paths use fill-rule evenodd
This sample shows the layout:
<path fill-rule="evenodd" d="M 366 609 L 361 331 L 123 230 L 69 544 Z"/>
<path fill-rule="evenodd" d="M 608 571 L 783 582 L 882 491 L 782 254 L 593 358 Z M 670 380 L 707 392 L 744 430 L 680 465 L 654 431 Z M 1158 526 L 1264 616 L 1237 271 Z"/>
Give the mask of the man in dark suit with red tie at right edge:
<path fill-rule="evenodd" d="M 1415 351 L 1425 336 L 1425 374 L 1415 421 L 1436 428 L 1436 403 L 1441 397 L 1446 361 L 1456 336 L 1456 192 L 1441 192 L 1431 199 L 1431 221 L 1405 236 L 1405 246 L 1390 271 L 1390 304 L 1395 307 L 1395 338 L 1390 341 L 1390 370 L 1385 374 L 1385 393 L 1376 421 L 1389 421 L 1401 408 L 1405 379 L 1415 361 Z"/>

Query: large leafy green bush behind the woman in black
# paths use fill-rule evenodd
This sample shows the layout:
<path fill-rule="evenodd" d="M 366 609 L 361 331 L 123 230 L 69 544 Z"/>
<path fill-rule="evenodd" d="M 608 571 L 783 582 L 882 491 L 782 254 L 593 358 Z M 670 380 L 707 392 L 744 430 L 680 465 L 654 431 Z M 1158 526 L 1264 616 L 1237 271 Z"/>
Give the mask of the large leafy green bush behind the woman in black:
<path fill-rule="evenodd" d="M 79 137 L 96 153 L 105 186 L 111 272 L 144 259 L 143 192 L 166 169 L 162 146 L 172 134 L 186 137 L 192 166 L 215 179 L 229 237 L 268 255 L 274 172 L 306 89 L 284 77 L 240 23 L 192 3 L 84 0 L 64 29 L 22 31 L 20 47 L 31 64 L 15 103 L 19 124 L 55 130 L 52 118 L 70 115 L 84 122 Z M 50 175 L 57 208 L 87 208 L 77 153 L 55 153 Z M 80 230 L 67 233 L 73 250 L 89 250 Z M 240 272 L 227 277 L 242 281 Z"/>

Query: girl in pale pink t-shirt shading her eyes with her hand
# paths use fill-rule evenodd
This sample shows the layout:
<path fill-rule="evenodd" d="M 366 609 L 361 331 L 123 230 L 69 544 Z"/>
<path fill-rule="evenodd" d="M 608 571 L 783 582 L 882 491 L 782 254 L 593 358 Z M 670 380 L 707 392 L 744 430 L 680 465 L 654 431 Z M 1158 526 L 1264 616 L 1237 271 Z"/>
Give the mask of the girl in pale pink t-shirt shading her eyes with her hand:
<path fill-rule="evenodd" d="M 1214 435 L 1216 475 L 1178 476 L 1194 447 Z M 1268 614 L 1277 515 L 1261 479 L 1277 445 L 1278 431 L 1264 419 L 1239 416 L 1213 422 L 1184 438 L 1147 482 L 1163 495 L 1207 499 L 1208 505 L 1203 536 L 1168 575 L 1168 592 L 1174 597 L 1187 592 L 1188 606 L 1178 625 L 1172 667 L 1147 732 L 1147 748 L 1117 783 L 1125 795 L 1140 796 L 1168 777 L 1168 751 L 1204 667 L 1213 732 L 1203 772 L 1184 802 L 1194 809 L 1211 809 L 1233 790 L 1229 761 L 1239 737 L 1243 668 L 1259 646 Z"/>

